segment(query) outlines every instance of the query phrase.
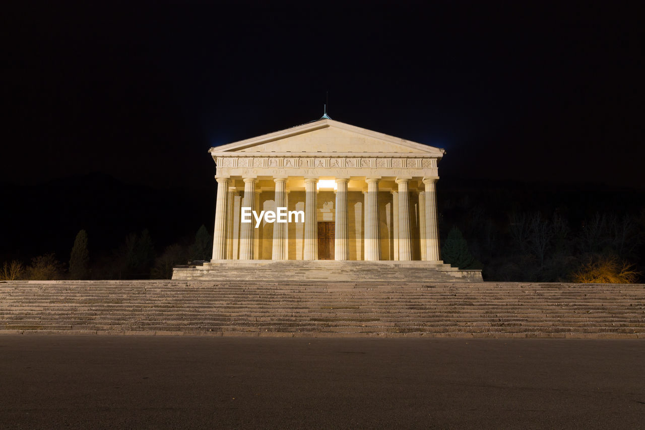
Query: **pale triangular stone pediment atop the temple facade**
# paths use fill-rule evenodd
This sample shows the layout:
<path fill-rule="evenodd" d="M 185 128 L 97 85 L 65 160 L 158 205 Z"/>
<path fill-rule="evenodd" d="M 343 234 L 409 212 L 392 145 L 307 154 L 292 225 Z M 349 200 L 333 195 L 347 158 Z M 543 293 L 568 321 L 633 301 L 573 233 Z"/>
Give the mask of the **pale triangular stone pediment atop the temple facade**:
<path fill-rule="evenodd" d="M 321 119 L 256 138 L 210 149 L 214 154 L 342 153 L 342 154 L 425 154 L 441 158 L 444 150 L 408 141 L 366 128 Z"/>

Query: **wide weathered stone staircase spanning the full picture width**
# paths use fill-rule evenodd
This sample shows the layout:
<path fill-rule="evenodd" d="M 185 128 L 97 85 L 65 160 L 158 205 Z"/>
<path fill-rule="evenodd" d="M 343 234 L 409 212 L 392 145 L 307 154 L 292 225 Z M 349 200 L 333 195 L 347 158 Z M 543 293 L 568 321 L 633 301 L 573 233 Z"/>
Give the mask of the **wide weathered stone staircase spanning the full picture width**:
<path fill-rule="evenodd" d="M 645 285 L 0 282 L 2 333 L 645 338 Z"/>

